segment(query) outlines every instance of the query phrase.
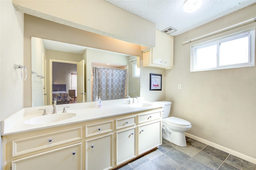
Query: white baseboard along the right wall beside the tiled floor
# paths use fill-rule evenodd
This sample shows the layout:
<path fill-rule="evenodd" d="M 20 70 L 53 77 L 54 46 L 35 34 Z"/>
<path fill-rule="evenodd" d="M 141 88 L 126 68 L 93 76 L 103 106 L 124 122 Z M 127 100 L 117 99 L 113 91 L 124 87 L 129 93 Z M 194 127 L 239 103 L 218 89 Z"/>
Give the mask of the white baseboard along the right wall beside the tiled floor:
<path fill-rule="evenodd" d="M 236 152 L 236 151 L 234 151 L 234 150 L 231 150 L 231 149 L 226 148 L 226 147 L 224 147 L 224 146 L 221 146 L 221 145 L 218 145 L 218 144 L 216 144 L 216 143 L 210 142 L 210 141 L 208 141 L 208 140 L 199 138 L 199 137 L 197 137 L 197 136 L 194 136 L 194 135 L 189 134 L 189 133 L 186 133 L 186 132 L 185 132 L 185 135 L 188 136 L 189 138 L 192 138 L 192 139 L 194 139 L 194 140 L 197 140 L 197 141 L 199 141 L 199 142 L 202 142 L 202 143 L 204 143 L 204 144 L 207 144 L 207 145 L 209 145 L 209 146 L 212 146 L 212 147 L 214 147 L 214 148 L 217 148 L 217 149 L 222 150 L 222 151 L 224 151 L 224 152 L 227 152 L 227 153 L 229 153 L 229 154 L 232 154 L 232 155 L 234 155 L 234 156 L 236 156 L 236 157 L 238 157 L 238 158 L 241 158 L 241 159 L 247 160 L 248 162 L 252 162 L 253 164 L 256 164 L 256 158 L 252 158 L 252 157 L 247 156 L 247 155 L 245 155 L 245 154 L 241 154 L 241 153 L 239 153 L 239 152 Z"/>

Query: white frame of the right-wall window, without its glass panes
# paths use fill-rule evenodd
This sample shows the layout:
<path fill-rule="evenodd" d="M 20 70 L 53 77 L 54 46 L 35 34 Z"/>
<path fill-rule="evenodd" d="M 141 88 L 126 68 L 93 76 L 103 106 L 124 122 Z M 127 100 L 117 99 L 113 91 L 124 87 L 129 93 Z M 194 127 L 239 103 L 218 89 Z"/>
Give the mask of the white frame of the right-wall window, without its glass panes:
<path fill-rule="evenodd" d="M 231 40 L 235 40 L 238 38 L 242 38 L 248 36 L 249 38 L 249 56 L 248 56 L 248 61 L 247 63 L 238 63 L 238 64 L 230 64 L 230 65 L 219 65 L 219 46 L 220 43 L 223 42 L 228 42 Z M 216 67 L 214 68 L 206 68 L 206 69 L 196 69 L 196 49 L 202 48 L 202 47 L 207 47 L 211 45 L 217 45 L 217 58 L 216 58 Z M 242 31 L 242 32 L 237 32 L 235 34 L 230 34 L 228 36 L 224 36 L 215 40 L 210 40 L 208 42 L 203 42 L 197 45 L 192 45 L 191 46 L 191 58 L 190 58 L 190 71 L 195 72 L 195 71 L 208 71 L 208 70 L 219 70 L 219 69 L 231 69 L 231 68 L 240 68 L 240 67 L 252 67 L 255 65 L 255 28 Z"/>

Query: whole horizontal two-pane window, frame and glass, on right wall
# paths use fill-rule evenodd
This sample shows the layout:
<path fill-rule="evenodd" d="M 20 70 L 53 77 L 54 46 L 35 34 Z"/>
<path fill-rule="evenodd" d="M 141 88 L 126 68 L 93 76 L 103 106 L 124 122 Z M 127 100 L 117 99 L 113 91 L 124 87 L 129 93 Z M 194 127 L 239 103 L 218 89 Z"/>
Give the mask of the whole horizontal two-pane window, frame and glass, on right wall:
<path fill-rule="evenodd" d="M 191 71 L 254 66 L 255 29 L 191 47 Z"/>

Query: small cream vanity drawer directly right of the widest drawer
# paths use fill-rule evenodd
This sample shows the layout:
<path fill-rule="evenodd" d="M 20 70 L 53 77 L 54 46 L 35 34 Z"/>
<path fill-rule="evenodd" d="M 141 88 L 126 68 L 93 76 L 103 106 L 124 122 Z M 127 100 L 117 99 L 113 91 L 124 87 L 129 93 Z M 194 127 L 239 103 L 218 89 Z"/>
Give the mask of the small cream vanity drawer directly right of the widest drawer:
<path fill-rule="evenodd" d="M 104 132 L 110 132 L 113 130 L 113 121 L 97 123 L 94 125 L 86 126 L 86 137 L 101 134 Z"/>

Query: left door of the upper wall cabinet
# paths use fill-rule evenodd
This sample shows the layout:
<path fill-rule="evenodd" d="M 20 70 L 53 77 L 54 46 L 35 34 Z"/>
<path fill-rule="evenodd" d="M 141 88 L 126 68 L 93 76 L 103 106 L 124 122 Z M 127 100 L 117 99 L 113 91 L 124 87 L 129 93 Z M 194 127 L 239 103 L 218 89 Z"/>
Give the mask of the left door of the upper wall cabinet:
<path fill-rule="evenodd" d="M 152 64 L 163 65 L 163 35 L 156 32 L 156 46 L 152 48 Z"/>

